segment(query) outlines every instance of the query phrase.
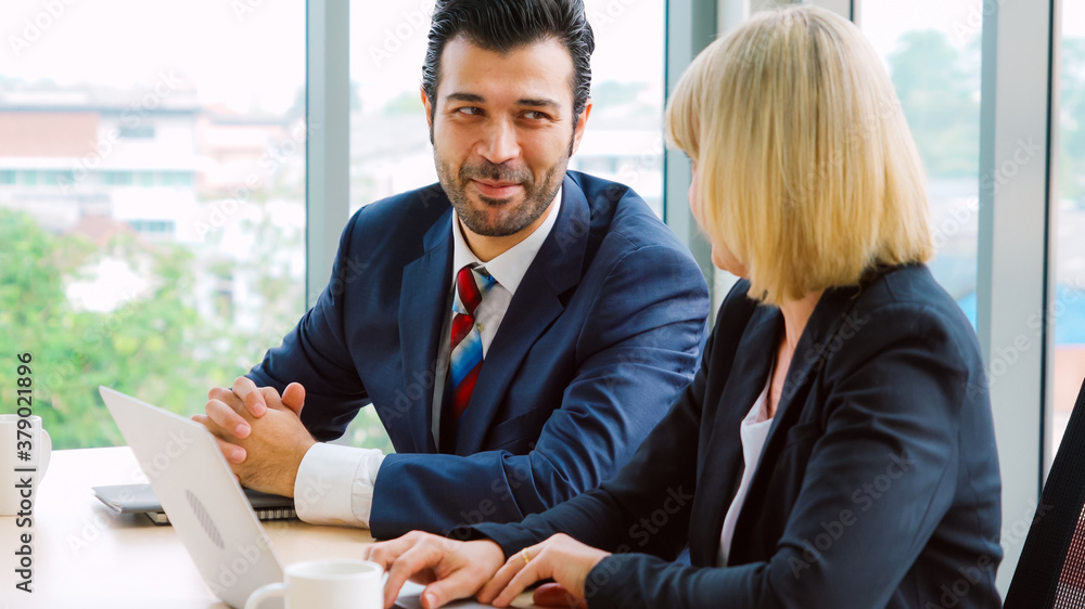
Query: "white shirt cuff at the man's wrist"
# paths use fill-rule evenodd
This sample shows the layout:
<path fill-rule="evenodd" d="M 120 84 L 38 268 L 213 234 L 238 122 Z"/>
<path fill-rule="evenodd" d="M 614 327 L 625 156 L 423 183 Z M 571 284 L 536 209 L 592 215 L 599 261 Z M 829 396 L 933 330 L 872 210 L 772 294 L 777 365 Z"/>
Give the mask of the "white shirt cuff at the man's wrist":
<path fill-rule="evenodd" d="M 297 517 L 314 524 L 369 528 L 373 485 L 384 462 L 375 449 L 314 444 L 302 458 L 294 481 Z"/>

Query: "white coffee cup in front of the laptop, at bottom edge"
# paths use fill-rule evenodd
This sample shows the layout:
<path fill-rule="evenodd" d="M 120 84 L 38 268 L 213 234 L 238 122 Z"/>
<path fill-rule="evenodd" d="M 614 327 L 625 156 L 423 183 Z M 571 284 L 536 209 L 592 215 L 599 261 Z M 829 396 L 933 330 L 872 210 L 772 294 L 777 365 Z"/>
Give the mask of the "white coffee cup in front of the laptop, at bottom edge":
<path fill-rule="evenodd" d="M 306 560 L 288 565 L 286 581 L 267 584 L 248 596 L 245 609 L 267 598 L 283 597 L 286 609 L 382 609 L 384 569 L 355 559 Z"/>

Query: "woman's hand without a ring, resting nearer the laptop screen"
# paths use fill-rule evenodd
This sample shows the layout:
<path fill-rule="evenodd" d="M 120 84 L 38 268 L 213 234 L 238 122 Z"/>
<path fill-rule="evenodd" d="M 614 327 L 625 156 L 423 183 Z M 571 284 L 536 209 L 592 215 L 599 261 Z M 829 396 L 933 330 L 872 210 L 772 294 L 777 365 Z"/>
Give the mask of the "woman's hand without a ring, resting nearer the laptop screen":
<path fill-rule="evenodd" d="M 384 607 L 395 604 L 408 579 L 429 584 L 422 607 L 435 609 L 478 591 L 505 561 L 501 546 L 492 541 L 460 542 L 412 531 L 390 542 L 376 543 L 362 554 L 388 572 Z"/>

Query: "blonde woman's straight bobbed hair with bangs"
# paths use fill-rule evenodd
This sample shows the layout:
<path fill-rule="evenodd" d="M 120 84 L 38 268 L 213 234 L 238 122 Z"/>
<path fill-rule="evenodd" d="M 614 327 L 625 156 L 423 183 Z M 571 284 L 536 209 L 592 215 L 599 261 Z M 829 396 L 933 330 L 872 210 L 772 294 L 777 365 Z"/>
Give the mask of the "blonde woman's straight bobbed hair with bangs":
<path fill-rule="evenodd" d="M 933 254 L 926 178 L 896 93 L 851 22 L 760 13 L 693 60 L 667 137 L 697 163 L 693 213 L 779 304 Z"/>

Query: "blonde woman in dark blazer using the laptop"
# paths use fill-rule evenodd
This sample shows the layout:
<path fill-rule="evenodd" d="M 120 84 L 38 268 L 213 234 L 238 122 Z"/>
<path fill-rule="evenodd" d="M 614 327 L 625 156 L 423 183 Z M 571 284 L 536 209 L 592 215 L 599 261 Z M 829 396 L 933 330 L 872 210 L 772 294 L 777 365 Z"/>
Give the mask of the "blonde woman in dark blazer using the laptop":
<path fill-rule="evenodd" d="M 922 264 L 923 172 L 873 50 L 827 11 L 760 14 L 697 57 L 667 131 L 744 277 L 697 378 L 599 489 L 372 546 L 390 604 L 419 576 L 427 607 L 546 579 L 536 602 L 592 608 L 998 607 L 982 362 Z"/>

